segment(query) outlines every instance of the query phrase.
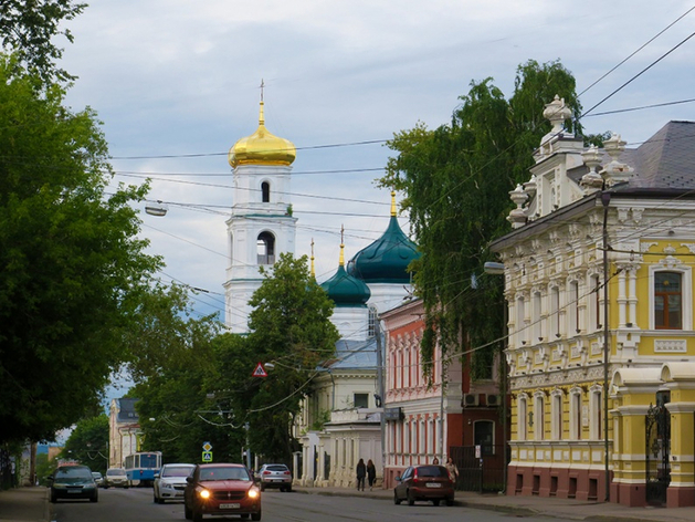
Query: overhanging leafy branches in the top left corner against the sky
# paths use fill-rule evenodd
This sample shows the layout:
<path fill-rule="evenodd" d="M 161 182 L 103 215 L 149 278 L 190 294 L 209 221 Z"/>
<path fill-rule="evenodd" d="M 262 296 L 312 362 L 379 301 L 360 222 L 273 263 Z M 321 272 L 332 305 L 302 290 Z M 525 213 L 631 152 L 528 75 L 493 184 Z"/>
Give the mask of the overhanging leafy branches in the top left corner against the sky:
<path fill-rule="evenodd" d="M 2 46 L 15 52 L 19 64 L 45 82 L 73 80 L 74 76 L 56 67 L 63 50 L 52 39 L 62 34 L 72 42 L 70 30 L 61 29 L 61 24 L 74 19 L 86 6 L 73 0 L 0 0 Z"/>

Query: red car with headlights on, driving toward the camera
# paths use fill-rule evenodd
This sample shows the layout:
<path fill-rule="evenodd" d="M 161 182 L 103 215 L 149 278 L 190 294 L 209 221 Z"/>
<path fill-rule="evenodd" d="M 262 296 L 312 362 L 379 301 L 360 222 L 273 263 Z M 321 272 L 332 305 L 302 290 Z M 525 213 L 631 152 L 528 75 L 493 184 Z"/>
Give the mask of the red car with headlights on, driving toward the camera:
<path fill-rule="evenodd" d="M 203 514 L 240 514 L 261 520 L 261 491 L 242 464 L 198 464 L 187 479 L 183 512 L 201 522 Z"/>

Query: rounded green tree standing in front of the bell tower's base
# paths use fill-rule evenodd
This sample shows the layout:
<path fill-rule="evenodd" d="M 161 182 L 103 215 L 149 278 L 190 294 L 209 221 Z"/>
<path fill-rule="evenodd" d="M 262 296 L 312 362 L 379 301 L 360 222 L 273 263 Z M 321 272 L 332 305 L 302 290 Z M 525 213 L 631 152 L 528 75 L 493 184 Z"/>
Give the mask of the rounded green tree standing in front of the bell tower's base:
<path fill-rule="evenodd" d="M 330 322 L 334 303 L 310 275 L 306 255 L 281 254 L 253 294 L 250 333 L 219 345 L 219 383 L 230 390 L 239 421 L 249 425 L 251 450 L 289 462 L 298 449 L 291 427 L 316 367 L 335 354 L 339 338 Z M 255 365 L 273 363 L 268 376 Z M 270 368 L 270 365 L 268 365 Z"/>

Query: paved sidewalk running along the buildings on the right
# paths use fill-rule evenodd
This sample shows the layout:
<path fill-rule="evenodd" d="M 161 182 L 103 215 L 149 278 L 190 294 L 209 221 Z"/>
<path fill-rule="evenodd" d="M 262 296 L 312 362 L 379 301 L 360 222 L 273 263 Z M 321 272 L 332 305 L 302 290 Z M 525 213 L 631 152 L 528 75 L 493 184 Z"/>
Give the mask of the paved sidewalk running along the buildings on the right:
<path fill-rule="evenodd" d="M 299 493 L 327 494 L 340 497 L 365 497 L 393 501 L 393 491 L 375 489 L 356 491 L 346 488 L 305 488 L 293 487 Z M 586 521 L 618 522 L 695 522 L 693 508 L 625 508 L 611 502 L 577 501 L 541 497 L 506 497 L 503 494 L 478 494 L 456 491 L 456 505 L 482 510 L 502 511 L 516 515 L 543 515 Z M 406 509 L 408 505 L 406 504 Z M 445 509 L 445 508 L 444 508 Z M 451 509 L 451 508 L 450 508 Z M 455 508 L 453 508 L 455 509 Z"/>

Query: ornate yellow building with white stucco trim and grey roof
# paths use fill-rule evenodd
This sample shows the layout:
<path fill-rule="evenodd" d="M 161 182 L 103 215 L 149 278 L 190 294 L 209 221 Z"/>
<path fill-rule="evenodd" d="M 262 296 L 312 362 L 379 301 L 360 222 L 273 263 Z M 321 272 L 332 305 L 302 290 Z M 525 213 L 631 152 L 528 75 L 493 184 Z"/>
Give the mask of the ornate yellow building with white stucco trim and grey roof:
<path fill-rule="evenodd" d="M 562 129 L 561 100 L 544 115 L 554 128 L 510 192 L 513 232 L 492 246 L 508 303 L 507 493 L 695 505 L 695 123 L 597 149 Z"/>

